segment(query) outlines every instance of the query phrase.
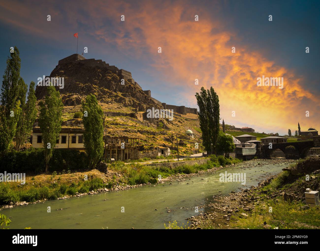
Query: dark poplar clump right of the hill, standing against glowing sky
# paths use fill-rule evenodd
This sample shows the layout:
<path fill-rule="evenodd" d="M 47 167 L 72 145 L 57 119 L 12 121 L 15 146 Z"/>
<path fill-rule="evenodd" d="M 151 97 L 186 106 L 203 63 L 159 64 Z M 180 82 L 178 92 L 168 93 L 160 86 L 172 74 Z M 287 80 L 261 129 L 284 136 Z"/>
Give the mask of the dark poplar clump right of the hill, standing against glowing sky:
<path fill-rule="evenodd" d="M 220 105 L 219 97 L 213 87 L 205 90 L 201 87 L 200 94 L 196 93 L 199 107 L 200 129 L 204 148 L 209 153 L 217 153 L 217 139 L 220 130 Z"/>

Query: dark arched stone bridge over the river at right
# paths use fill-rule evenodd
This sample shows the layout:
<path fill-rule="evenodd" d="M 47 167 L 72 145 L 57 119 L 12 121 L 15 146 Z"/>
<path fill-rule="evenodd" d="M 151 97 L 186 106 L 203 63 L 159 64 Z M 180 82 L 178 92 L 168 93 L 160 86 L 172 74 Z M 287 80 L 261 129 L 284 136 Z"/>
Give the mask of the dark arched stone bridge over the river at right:
<path fill-rule="evenodd" d="M 294 146 L 293 148 L 287 148 L 287 146 Z M 298 159 L 307 156 L 310 148 L 313 147 L 313 141 L 297 141 L 291 143 L 273 143 L 272 149 L 269 149 L 269 145 L 263 145 L 261 148 L 261 157 L 269 158 L 271 154 L 276 150 L 280 149 L 284 152 L 286 159 Z"/>

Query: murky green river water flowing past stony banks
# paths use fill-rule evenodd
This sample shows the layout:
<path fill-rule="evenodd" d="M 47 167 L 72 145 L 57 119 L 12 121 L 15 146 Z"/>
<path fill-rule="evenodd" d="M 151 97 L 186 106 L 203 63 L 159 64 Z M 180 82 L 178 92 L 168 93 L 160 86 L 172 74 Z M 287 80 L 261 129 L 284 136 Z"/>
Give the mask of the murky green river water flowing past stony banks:
<path fill-rule="evenodd" d="M 148 185 L 119 192 L 46 201 L 4 209 L 1 213 L 12 217 L 10 229 L 163 229 L 164 223 L 173 220 L 177 220 L 180 225 L 186 224 L 185 218 L 198 215 L 194 208 L 212 201 L 213 194 L 228 194 L 232 190 L 239 191 L 239 187 L 256 186 L 264 177 L 279 173 L 287 166 L 260 165 L 245 169 L 228 167 L 183 182 L 173 181 L 172 185 Z M 246 186 L 241 185 L 241 182 L 220 182 L 219 174 L 225 171 L 246 173 Z M 49 206 L 51 213 L 47 212 Z M 122 207 L 124 212 L 121 212 Z M 63 210 L 57 210 L 61 208 Z M 172 212 L 167 213 L 167 208 Z M 201 210 L 204 209 L 199 209 L 199 212 Z"/>

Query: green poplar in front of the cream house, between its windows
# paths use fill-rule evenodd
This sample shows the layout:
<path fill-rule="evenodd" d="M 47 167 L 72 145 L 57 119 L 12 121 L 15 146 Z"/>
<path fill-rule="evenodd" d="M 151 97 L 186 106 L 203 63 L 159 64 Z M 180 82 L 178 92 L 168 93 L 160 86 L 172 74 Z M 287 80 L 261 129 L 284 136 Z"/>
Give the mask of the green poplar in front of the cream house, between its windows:
<path fill-rule="evenodd" d="M 48 172 L 52 151 L 61 131 L 63 103 L 59 91 L 56 91 L 54 86 L 48 86 L 44 102 L 39 102 L 39 106 L 39 126 L 44 146 L 45 172 Z"/>

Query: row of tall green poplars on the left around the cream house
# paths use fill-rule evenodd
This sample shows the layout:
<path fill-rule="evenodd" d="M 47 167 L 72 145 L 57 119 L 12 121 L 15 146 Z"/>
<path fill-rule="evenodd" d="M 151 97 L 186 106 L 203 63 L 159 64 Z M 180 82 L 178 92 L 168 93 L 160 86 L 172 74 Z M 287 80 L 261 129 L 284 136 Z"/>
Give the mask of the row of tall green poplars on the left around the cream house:
<path fill-rule="evenodd" d="M 0 94 L 0 154 L 20 151 L 32 135 L 38 116 L 44 147 L 44 167 L 48 171 L 56 141 L 61 131 L 63 103 L 54 86 L 48 86 L 47 94 L 36 107 L 35 82 L 28 86 L 20 77 L 21 60 L 17 47 L 10 52 L 3 75 Z M 44 87 L 45 88 L 45 87 Z M 84 148 L 88 156 L 88 167 L 94 168 L 103 155 L 103 112 L 96 97 L 88 95 L 82 102 L 84 122 Z M 85 116 L 84 116 L 85 114 Z M 68 139 L 69 140 L 69 139 Z M 15 142 L 15 144 L 13 144 Z"/>

